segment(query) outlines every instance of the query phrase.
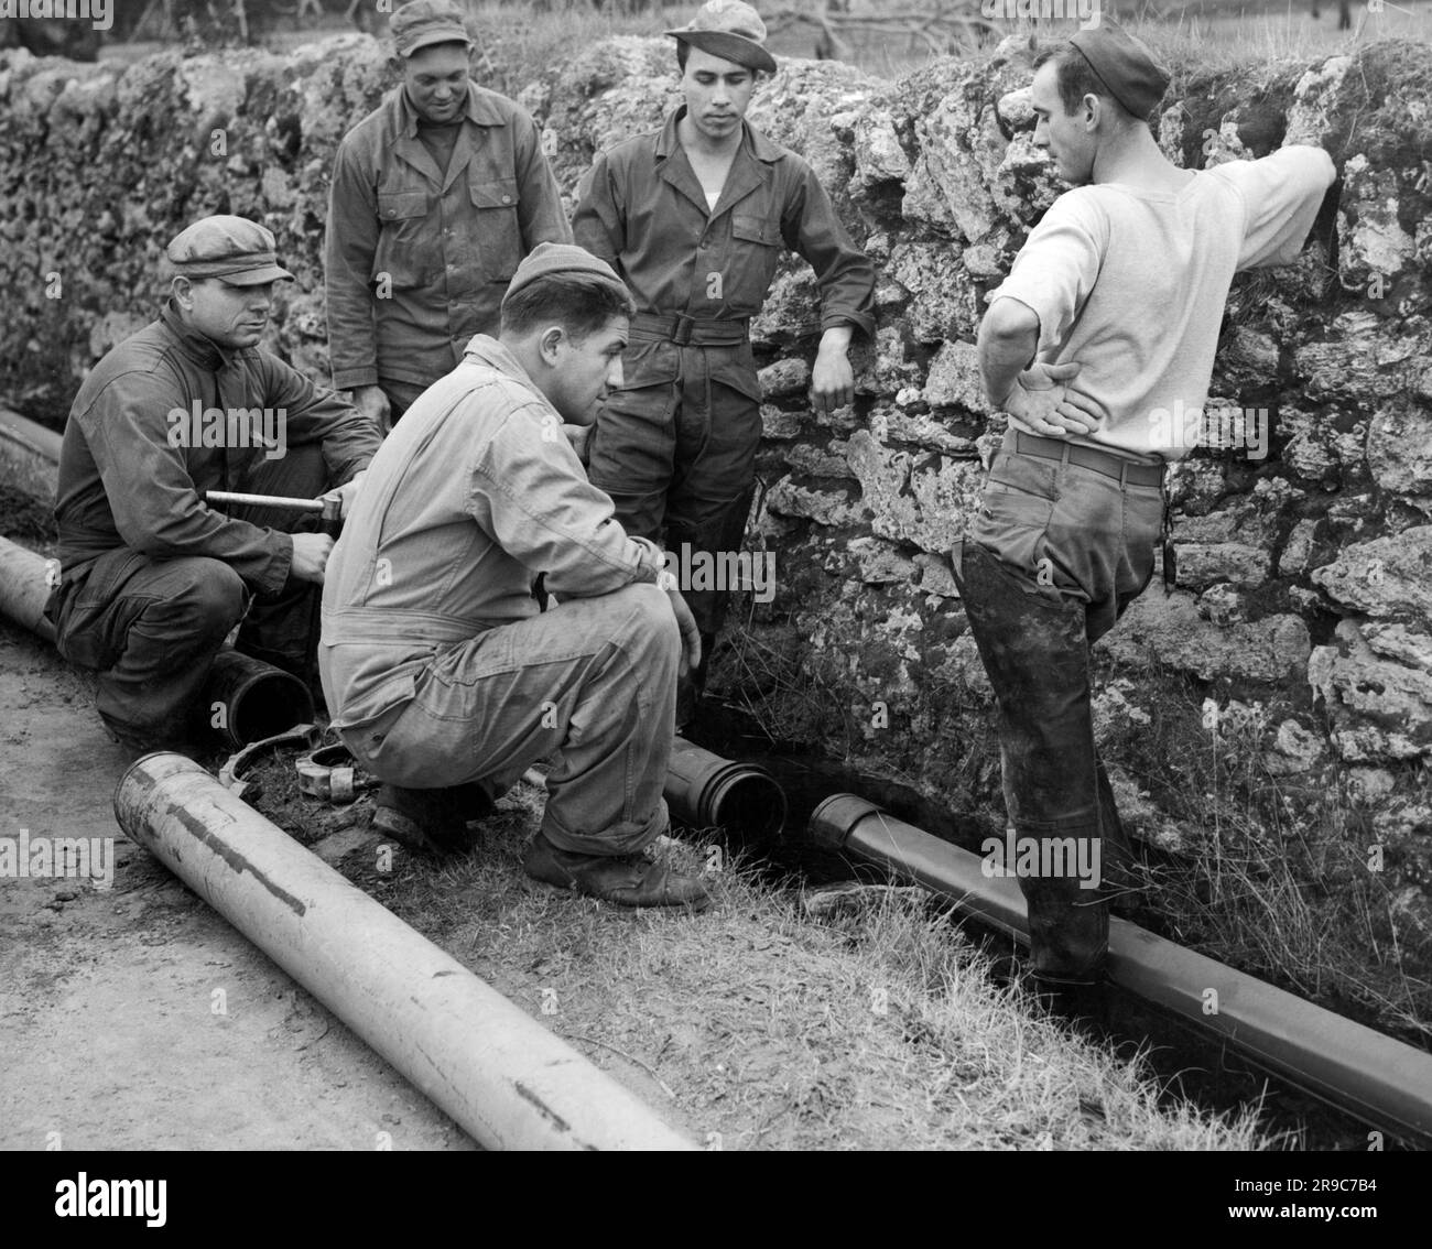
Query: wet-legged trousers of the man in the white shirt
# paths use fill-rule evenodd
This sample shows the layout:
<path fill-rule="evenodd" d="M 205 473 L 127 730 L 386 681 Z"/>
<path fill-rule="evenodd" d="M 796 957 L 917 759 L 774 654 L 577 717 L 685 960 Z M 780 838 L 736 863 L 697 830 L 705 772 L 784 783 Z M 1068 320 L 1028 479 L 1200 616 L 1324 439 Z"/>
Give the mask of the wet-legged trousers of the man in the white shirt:
<path fill-rule="evenodd" d="M 1110 877 L 1130 859 L 1094 745 L 1090 647 L 1153 576 L 1164 490 L 1021 454 L 1017 437 L 1028 435 L 1011 430 L 991 464 L 955 576 L 994 686 L 1010 824 L 1021 844 L 1050 851 L 1037 857 L 1040 874 L 1020 875 L 1032 970 L 1087 983 L 1108 950 Z M 1055 854 L 1055 842 L 1073 852 Z M 1094 888 L 1071 869 L 1090 864 L 1100 865 Z"/>

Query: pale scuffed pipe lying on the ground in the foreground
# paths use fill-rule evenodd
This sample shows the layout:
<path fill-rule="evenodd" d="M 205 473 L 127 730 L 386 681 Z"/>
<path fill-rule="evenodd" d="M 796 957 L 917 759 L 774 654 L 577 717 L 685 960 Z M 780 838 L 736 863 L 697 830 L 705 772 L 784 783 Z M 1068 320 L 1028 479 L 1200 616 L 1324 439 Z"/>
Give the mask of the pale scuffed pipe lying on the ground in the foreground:
<path fill-rule="evenodd" d="M 190 759 L 136 761 L 115 815 L 480 1144 L 696 1149 Z"/>

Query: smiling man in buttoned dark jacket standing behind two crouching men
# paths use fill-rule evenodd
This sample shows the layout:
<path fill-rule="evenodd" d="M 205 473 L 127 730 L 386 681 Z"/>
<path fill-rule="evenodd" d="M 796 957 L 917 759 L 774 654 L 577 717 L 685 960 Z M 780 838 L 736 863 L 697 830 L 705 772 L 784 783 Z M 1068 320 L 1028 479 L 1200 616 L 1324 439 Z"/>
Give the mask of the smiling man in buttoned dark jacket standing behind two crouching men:
<path fill-rule="evenodd" d="M 461 10 L 412 0 L 390 24 L 402 86 L 338 148 L 324 251 L 334 385 L 384 430 L 497 332 L 521 258 L 571 242 L 531 117 L 468 80 Z"/>

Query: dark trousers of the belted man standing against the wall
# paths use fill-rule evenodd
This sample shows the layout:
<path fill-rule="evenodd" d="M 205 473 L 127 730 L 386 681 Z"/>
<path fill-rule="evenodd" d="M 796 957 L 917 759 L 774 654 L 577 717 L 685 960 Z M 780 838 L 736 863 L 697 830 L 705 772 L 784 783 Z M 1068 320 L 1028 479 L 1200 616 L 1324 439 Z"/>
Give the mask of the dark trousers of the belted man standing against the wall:
<path fill-rule="evenodd" d="M 742 358 L 732 367 L 732 355 Z M 587 476 L 611 496 L 621 527 L 660 543 L 677 559 L 710 551 L 715 567 L 735 567 L 755 494 L 760 445 L 760 385 L 748 344 L 679 347 L 640 341 L 623 357 L 624 384 L 606 401 L 591 435 Z M 712 377 L 746 378 L 737 390 Z M 696 627 L 713 639 L 735 586 L 682 586 Z"/>

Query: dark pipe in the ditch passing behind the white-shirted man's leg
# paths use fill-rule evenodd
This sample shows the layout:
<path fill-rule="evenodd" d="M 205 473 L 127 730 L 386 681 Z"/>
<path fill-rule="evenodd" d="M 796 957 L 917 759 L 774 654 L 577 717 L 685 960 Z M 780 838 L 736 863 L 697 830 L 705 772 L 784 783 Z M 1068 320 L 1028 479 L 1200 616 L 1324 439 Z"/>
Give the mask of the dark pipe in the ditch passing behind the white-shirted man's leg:
<path fill-rule="evenodd" d="M 1018 882 L 987 877 L 978 855 L 853 794 L 822 802 L 809 829 L 822 845 L 881 864 L 1028 942 Z M 1432 1054 L 1113 917 L 1108 978 L 1372 1127 L 1432 1137 Z"/>

